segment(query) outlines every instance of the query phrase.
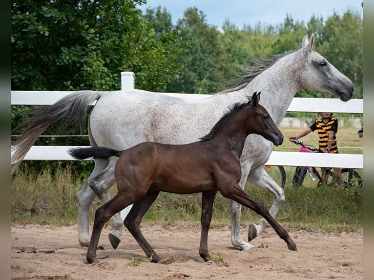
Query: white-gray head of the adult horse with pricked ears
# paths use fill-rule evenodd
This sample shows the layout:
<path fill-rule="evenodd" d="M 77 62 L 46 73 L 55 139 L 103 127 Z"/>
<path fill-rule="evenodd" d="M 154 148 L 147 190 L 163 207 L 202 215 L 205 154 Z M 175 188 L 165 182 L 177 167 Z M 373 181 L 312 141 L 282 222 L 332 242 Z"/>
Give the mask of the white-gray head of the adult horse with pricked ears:
<path fill-rule="evenodd" d="M 303 88 L 339 96 L 340 100 L 353 98 L 354 85 L 319 53 L 313 51 L 314 34 L 311 40 L 305 36 L 299 50 L 304 59 L 305 69 L 300 72 Z"/>

